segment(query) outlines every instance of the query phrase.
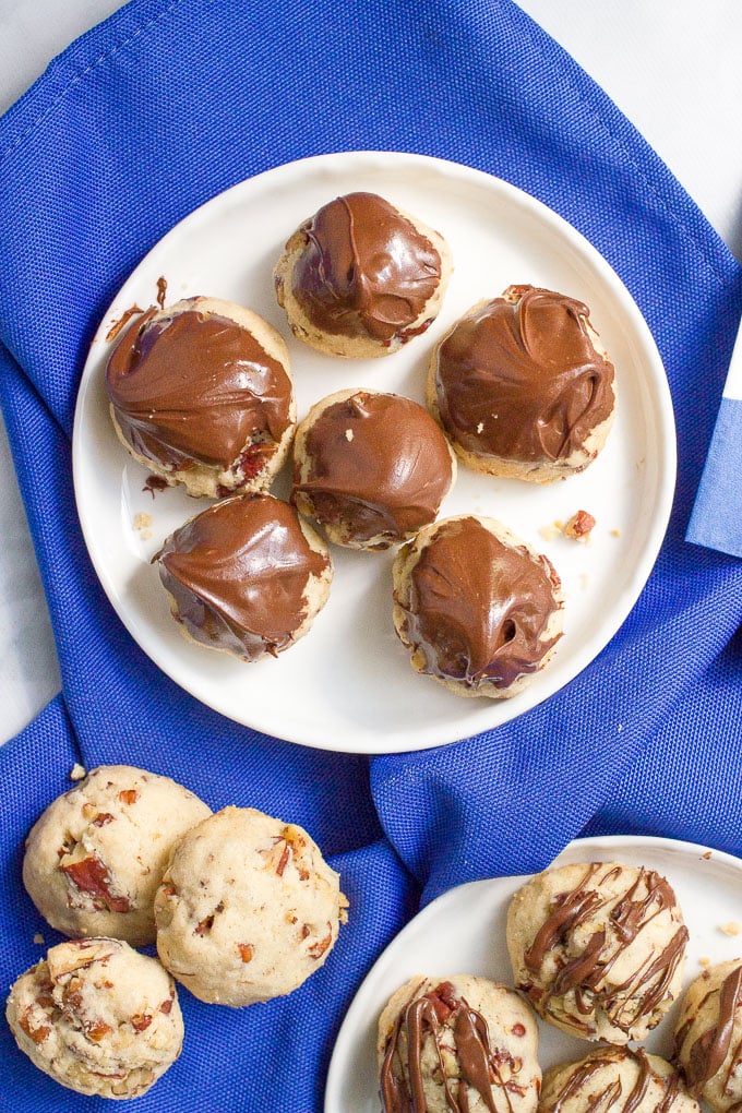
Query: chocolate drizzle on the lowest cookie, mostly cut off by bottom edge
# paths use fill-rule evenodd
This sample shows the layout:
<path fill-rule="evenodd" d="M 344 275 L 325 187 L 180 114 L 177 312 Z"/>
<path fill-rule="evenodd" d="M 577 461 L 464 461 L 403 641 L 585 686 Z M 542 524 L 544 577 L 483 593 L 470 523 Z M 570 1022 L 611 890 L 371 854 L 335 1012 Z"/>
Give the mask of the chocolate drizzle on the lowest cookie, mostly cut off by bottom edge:
<path fill-rule="evenodd" d="M 623 1096 L 617 1072 L 613 1080 L 606 1083 L 605 1089 L 600 1090 L 596 1081 L 593 1081 L 595 1075 L 612 1064 L 620 1065 L 626 1058 L 631 1058 L 639 1068 L 639 1076 L 631 1092 Z M 581 1104 L 585 1113 L 602 1113 L 604 1110 L 621 1110 L 621 1113 L 636 1113 L 637 1110 L 644 1110 L 649 1113 L 646 1093 L 653 1080 L 660 1086 L 659 1100 L 652 1105 L 653 1113 L 670 1113 L 680 1090 L 680 1080 L 675 1072 L 665 1076 L 655 1074 L 641 1047 L 635 1051 L 630 1051 L 627 1047 L 601 1048 L 575 1064 L 553 1099 L 544 1100 L 542 1095 L 538 1109 L 542 1113 L 561 1113 L 564 1103 L 580 1094 L 583 1100 L 586 1099 L 585 1104 Z"/>

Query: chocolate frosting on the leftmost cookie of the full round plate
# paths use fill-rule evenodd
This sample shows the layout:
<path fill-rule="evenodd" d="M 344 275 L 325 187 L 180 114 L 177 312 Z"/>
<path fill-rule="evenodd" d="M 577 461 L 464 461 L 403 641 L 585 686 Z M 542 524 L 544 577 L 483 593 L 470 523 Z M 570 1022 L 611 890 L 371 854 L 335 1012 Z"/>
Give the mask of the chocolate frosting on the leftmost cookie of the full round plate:
<path fill-rule="evenodd" d="M 253 441 L 269 455 L 290 424 L 283 365 L 247 328 L 196 307 L 148 309 L 112 351 L 106 384 L 133 451 L 178 471 L 229 467 Z"/>

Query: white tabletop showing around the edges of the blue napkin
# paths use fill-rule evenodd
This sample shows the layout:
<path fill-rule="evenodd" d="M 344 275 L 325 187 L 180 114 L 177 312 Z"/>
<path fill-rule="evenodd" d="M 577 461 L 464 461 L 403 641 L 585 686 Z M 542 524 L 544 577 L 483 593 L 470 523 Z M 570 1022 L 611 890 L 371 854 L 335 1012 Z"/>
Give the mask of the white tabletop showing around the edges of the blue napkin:
<path fill-rule="evenodd" d="M 0 0 L 0 114 L 117 0 Z M 521 0 L 644 135 L 742 262 L 740 0 Z M 59 691 L 0 420 L 0 742 Z"/>

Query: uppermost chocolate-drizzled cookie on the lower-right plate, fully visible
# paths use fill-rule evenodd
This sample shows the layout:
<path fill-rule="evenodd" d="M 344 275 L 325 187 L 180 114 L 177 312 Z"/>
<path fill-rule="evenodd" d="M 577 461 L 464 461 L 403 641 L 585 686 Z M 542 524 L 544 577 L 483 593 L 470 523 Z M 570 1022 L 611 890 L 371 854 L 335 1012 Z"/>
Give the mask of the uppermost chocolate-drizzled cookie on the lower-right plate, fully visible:
<path fill-rule="evenodd" d="M 517 988 L 551 1024 L 622 1045 L 656 1027 L 681 988 L 687 928 L 652 869 L 578 863 L 513 897 L 507 948 Z"/>

